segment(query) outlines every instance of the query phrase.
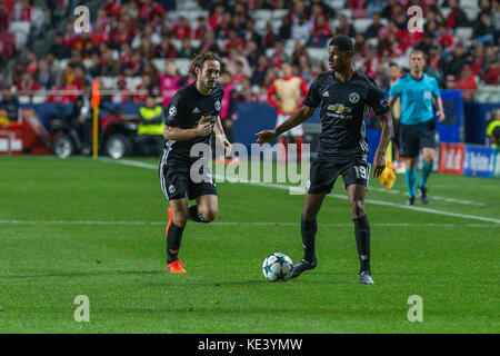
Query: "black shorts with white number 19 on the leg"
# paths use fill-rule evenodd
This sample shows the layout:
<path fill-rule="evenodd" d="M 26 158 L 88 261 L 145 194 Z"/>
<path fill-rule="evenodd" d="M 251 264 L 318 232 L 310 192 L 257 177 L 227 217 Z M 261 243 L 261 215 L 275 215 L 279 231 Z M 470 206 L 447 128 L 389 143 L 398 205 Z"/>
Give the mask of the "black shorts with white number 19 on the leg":
<path fill-rule="evenodd" d="M 350 185 L 368 187 L 371 165 L 361 158 L 318 157 L 311 165 L 308 194 L 330 192 L 340 175 L 346 188 Z"/>

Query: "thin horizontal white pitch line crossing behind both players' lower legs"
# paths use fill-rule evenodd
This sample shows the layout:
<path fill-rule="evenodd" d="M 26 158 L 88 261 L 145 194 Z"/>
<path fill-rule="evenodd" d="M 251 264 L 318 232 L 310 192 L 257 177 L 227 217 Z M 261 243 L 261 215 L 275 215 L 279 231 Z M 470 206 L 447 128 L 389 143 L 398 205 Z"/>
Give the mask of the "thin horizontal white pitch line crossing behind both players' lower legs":
<path fill-rule="evenodd" d="M 167 221 L 102 221 L 102 220 L 0 220 L 3 225 L 166 225 Z M 213 221 L 216 226 L 300 226 L 300 222 L 271 221 Z M 323 226 L 352 226 L 352 222 L 322 222 Z M 452 222 L 370 222 L 380 227 L 498 227 L 497 224 L 452 224 Z"/>

